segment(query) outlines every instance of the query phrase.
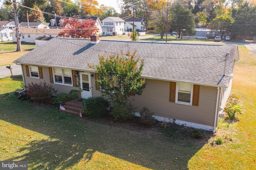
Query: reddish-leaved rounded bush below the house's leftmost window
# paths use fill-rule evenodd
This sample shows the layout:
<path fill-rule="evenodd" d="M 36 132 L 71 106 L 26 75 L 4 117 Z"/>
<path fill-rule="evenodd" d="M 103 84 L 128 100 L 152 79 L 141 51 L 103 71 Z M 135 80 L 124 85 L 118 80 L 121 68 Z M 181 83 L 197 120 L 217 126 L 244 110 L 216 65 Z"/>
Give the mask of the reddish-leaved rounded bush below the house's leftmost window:
<path fill-rule="evenodd" d="M 47 84 L 46 82 L 29 83 L 28 86 L 26 86 L 26 91 L 29 97 L 43 103 L 48 102 L 48 99 L 57 92 L 52 87 L 52 84 Z"/>

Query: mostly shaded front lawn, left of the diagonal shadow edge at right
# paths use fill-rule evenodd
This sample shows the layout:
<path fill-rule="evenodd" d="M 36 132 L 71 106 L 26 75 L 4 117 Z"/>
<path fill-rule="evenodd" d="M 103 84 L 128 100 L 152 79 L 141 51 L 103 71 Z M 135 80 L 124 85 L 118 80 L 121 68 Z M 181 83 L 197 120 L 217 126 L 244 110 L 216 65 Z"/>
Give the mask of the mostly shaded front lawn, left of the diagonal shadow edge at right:
<path fill-rule="evenodd" d="M 58 107 L 18 101 L 21 76 L 0 79 L 0 161 L 28 169 L 186 169 L 207 139 L 176 139 L 60 113 Z M 115 122 L 112 124 L 116 124 Z"/>

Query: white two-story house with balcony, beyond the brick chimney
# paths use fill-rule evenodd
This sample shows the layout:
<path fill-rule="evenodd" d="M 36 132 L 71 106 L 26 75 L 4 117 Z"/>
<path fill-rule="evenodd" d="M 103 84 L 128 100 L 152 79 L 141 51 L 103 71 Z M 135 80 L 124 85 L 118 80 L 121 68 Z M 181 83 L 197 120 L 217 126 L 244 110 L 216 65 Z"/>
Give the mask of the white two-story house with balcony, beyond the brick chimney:
<path fill-rule="evenodd" d="M 124 31 L 124 20 L 121 18 L 107 17 L 102 20 L 102 35 L 113 35 L 113 32 L 122 35 Z"/>

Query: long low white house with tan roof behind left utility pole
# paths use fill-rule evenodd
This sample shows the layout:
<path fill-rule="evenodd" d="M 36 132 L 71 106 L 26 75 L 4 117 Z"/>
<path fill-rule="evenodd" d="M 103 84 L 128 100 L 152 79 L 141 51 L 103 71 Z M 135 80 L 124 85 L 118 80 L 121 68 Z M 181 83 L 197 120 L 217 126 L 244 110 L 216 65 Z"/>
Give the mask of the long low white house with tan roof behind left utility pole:
<path fill-rule="evenodd" d="M 22 33 L 21 41 L 35 43 L 38 37 L 57 37 L 62 29 L 40 29 L 40 28 L 20 28 Z M 12 32 L 12 41 L 17 42 L 16 31 Z"/>

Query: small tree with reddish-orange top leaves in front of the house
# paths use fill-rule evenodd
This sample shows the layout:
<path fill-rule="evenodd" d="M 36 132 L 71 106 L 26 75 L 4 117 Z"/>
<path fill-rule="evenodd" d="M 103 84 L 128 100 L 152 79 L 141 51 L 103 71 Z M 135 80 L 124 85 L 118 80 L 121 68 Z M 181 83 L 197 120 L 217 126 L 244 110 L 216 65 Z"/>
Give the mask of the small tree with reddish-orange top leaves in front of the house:
<path fill-rule="evenodd" d="M 96 82 L 114 107 L 111 115 L 116 120 L 124 121 L 134 116 L 134 107 L 129 102 L 131 94 L 141 95 L 145 88 L 145 80 L 141 79 L 144 61 L 136 56 L 136 51 L 127 51 L 116 55 L 99 56 L 99 64 L 90 66 L 98 72 Z"/>

